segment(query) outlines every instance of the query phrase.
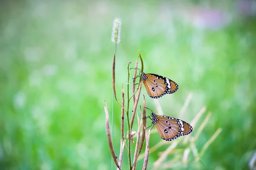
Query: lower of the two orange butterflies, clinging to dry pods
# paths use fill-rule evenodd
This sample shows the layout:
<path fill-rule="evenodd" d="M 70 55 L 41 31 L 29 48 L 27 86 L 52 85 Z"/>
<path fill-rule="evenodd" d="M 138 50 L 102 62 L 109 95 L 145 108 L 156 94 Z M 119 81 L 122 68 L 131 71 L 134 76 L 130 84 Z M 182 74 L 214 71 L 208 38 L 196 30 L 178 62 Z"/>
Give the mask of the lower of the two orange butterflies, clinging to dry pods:
<path fill-rule="evenodd" d="M 151 116 L 152 118 L 150 116 L 146 117 L 152 120 L 151 126 L 149 127 L 152 128 L 156 126 L 161 138 L 166 141 L 172 141 L 179 136 L 188 135 L 193 131 L 192 126 L 189 125 L 187 122 L 184 122 L 183 120 L 169 116 L 156 115 L 155 113 L 153 113 L 153 111 L 151 113 Z"/>

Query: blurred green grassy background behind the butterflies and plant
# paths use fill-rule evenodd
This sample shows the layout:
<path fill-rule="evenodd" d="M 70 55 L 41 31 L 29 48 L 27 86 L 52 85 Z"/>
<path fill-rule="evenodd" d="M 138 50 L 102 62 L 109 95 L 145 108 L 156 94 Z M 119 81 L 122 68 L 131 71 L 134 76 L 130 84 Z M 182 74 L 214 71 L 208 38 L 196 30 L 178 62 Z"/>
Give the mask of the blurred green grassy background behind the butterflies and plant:
<path fill-rule="evenodd" d="M 104 100 L 111 113 L 115 17 L 122 20 L 118 99 L 127 83 L 127 63 L 134 66 L 140 49 L 146 73 L 180 87 L 159 99 L 165 115 L 177 117 L 189 92 L 193 97 L 184 121 L 203 106 L 212 112 L 196 141 L 198 150 L 222 128 L 201 161 L 190 154 L 188 166 L 176 169 L 249 169 L 256 150 L 255 6 L 253 1 L 203 0 L 1 1 L 0 169 L 111 169 Z M 145 88 L 142 94 L 156 111 Z M 119 155 L 116 103 L 114 115 Z M 151 134 L 150 146 L 161 140 Z M 125 150 L 124 156 L 122 167 L 128 169 Z M 148 169 L 158 158 L 157 152 L 150 154 Z"/>

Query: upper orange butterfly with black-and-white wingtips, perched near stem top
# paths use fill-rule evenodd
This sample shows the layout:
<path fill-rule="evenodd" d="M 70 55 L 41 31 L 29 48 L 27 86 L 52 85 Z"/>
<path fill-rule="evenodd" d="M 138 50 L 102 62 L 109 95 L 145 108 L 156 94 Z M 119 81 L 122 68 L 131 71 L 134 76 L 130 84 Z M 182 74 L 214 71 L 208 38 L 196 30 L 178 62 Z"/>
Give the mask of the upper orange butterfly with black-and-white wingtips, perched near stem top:
<path fill-rule="evenodd" d="M 165 94 L 172 94 L 179 88 L 176 82 L 157 74 L 145 74 L 143 72 L 142 81 L 148 96 L 153 99 L 158 99 Z"/>

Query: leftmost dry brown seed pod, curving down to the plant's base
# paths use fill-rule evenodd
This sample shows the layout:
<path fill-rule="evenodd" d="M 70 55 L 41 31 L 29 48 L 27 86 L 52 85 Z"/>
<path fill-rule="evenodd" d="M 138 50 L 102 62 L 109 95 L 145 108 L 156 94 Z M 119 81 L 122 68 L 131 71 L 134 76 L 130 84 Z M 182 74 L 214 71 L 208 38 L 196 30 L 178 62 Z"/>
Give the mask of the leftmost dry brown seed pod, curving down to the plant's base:
<path fill-rule="evenodd" d="M 112 158 L 113 158 L 113 160 L 114 160 L 114 162 L 116 164 L 116 167 L 118 167 L 120 169 L 120 167 L 118 165 L 118 162 L 117 162 L 117 157 L 116 157 L 116 154 L 115 154 L 115 151 L 114 151 L 113 142 L 112 142 L 112 139 L 111 139 L 111 132 L 110 132 L 110 126 L 109 126 L 109 115 L 108 115 L 107 104 L 105 105 L 105 113 L 106 113 L 106 132 L 107 132 L 109 149 L 110 149 Z"/>

